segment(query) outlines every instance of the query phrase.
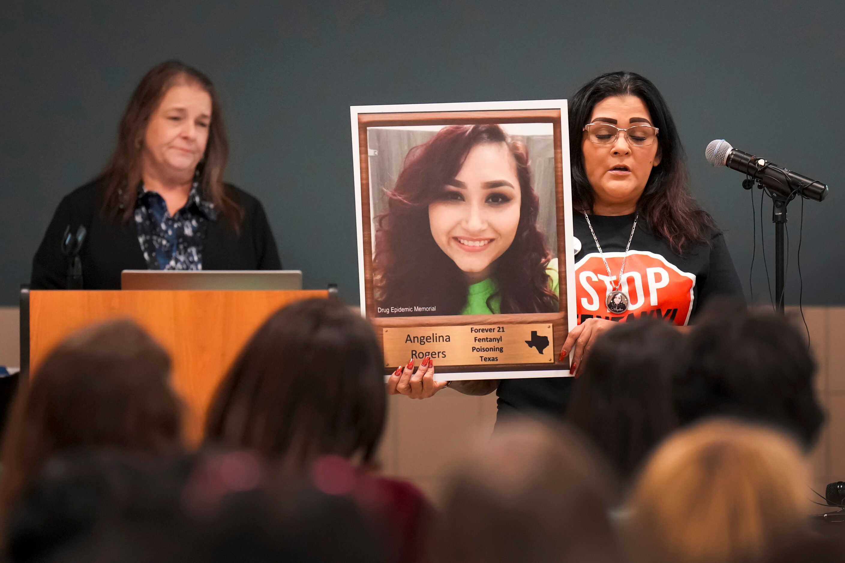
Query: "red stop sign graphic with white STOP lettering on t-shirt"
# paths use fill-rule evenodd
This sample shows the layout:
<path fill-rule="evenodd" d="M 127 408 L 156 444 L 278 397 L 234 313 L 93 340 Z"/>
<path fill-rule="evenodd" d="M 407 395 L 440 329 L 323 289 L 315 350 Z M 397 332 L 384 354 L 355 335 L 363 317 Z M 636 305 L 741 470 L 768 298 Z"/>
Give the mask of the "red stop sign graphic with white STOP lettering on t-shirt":
<path fill-rule="evenodd" d="M 591 317 L 628 321 L 639 317 L 658 317 L 678 325 L 690 320 L 695 274 L 682 272 L 653 252 L 630 251 L 625 259 L 622 288 L 630 305 L 621 315 L 608 311 L 605 299 L 619 283 L 624 252 L 591 253 L 575 264 L 575 300 L 578 323 Z"/>

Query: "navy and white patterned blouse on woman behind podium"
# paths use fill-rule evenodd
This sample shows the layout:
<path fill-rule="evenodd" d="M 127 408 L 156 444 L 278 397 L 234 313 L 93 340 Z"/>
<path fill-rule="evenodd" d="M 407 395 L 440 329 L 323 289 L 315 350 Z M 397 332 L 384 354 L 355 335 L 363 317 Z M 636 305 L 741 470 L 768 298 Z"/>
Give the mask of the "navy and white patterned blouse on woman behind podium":
<path fill-rule="evenodd" d="M 150 270 L 203 269 L 203 242 L 207 221 L 217 220 L 214 204 L 199 195 L 194 181 L 188 203 L 171 216 L 157 192 L 138 188 L 135 226 L 144 260 Z"/>

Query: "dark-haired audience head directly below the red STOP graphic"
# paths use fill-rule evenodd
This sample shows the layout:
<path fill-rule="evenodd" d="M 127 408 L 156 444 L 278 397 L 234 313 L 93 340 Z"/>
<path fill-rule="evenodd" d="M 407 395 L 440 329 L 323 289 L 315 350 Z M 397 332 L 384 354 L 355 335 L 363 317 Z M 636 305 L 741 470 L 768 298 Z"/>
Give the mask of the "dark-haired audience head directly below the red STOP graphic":
<path fill-rule="evenodd" d="M 567 420 L 626 481 L 677 426 L 672 383 L 685 367 L 683 342 L 666 322 L 619 323 L 597 339 L 575 382 Z"/>

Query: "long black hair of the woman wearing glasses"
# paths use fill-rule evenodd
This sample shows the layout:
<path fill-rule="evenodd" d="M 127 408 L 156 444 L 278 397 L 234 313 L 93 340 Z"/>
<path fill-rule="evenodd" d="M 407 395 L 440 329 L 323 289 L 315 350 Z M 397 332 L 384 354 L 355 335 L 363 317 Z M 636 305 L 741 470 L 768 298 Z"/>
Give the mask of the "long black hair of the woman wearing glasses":
<path fill-rule="evenodd" d="M 637 73 L 602 74 L 584 84 L 570 100 L 570 166 L 575 209 L 591 209 L 595 202 L 595 193 L 584 170 L 581 149 L 584 126 L 590 122 L 598 102 L 622 95 L 640 98 L 651 114 L 652 124 L 660 130 L 657 137 L 660 164 L 651 170 L 637 203 L 641 219 L 646 220 L 656 235 L 668 241 L 675 252 L 682 253 L 695 244 L 709 244 L 716 223 L 690 195 L 684 148 L 672 114 L 657 86 Z"/>

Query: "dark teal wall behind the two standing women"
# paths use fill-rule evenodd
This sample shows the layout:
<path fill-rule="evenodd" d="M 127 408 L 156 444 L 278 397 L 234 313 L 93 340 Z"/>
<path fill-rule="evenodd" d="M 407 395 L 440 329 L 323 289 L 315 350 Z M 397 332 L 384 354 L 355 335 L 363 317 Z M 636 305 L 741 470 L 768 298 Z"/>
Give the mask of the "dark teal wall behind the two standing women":
<path fill-rule="evenodd" d="M 357 302 L 349 106 L 559 98 L 630 69 L 667 98 L 693 191 L 746 286 L 749 194 L 738 173 L 706 165 L 706 144 L 727 138 L 830 185 L 825 203 L 804 208 L 804 304 L 845 304 L 843 24 L 834 1 L 4 3 L 0 305 L 16 303 L 59 199 L 100 170 L 134 85 L 171 57 L 221 90 L 228 179 L 264 202 L 283 262 L 307 287 L 335 281 Z M 797 302 L 800 204 L 789 211 Z M 756 264 L 759 296 L 759 244 Z"/>

